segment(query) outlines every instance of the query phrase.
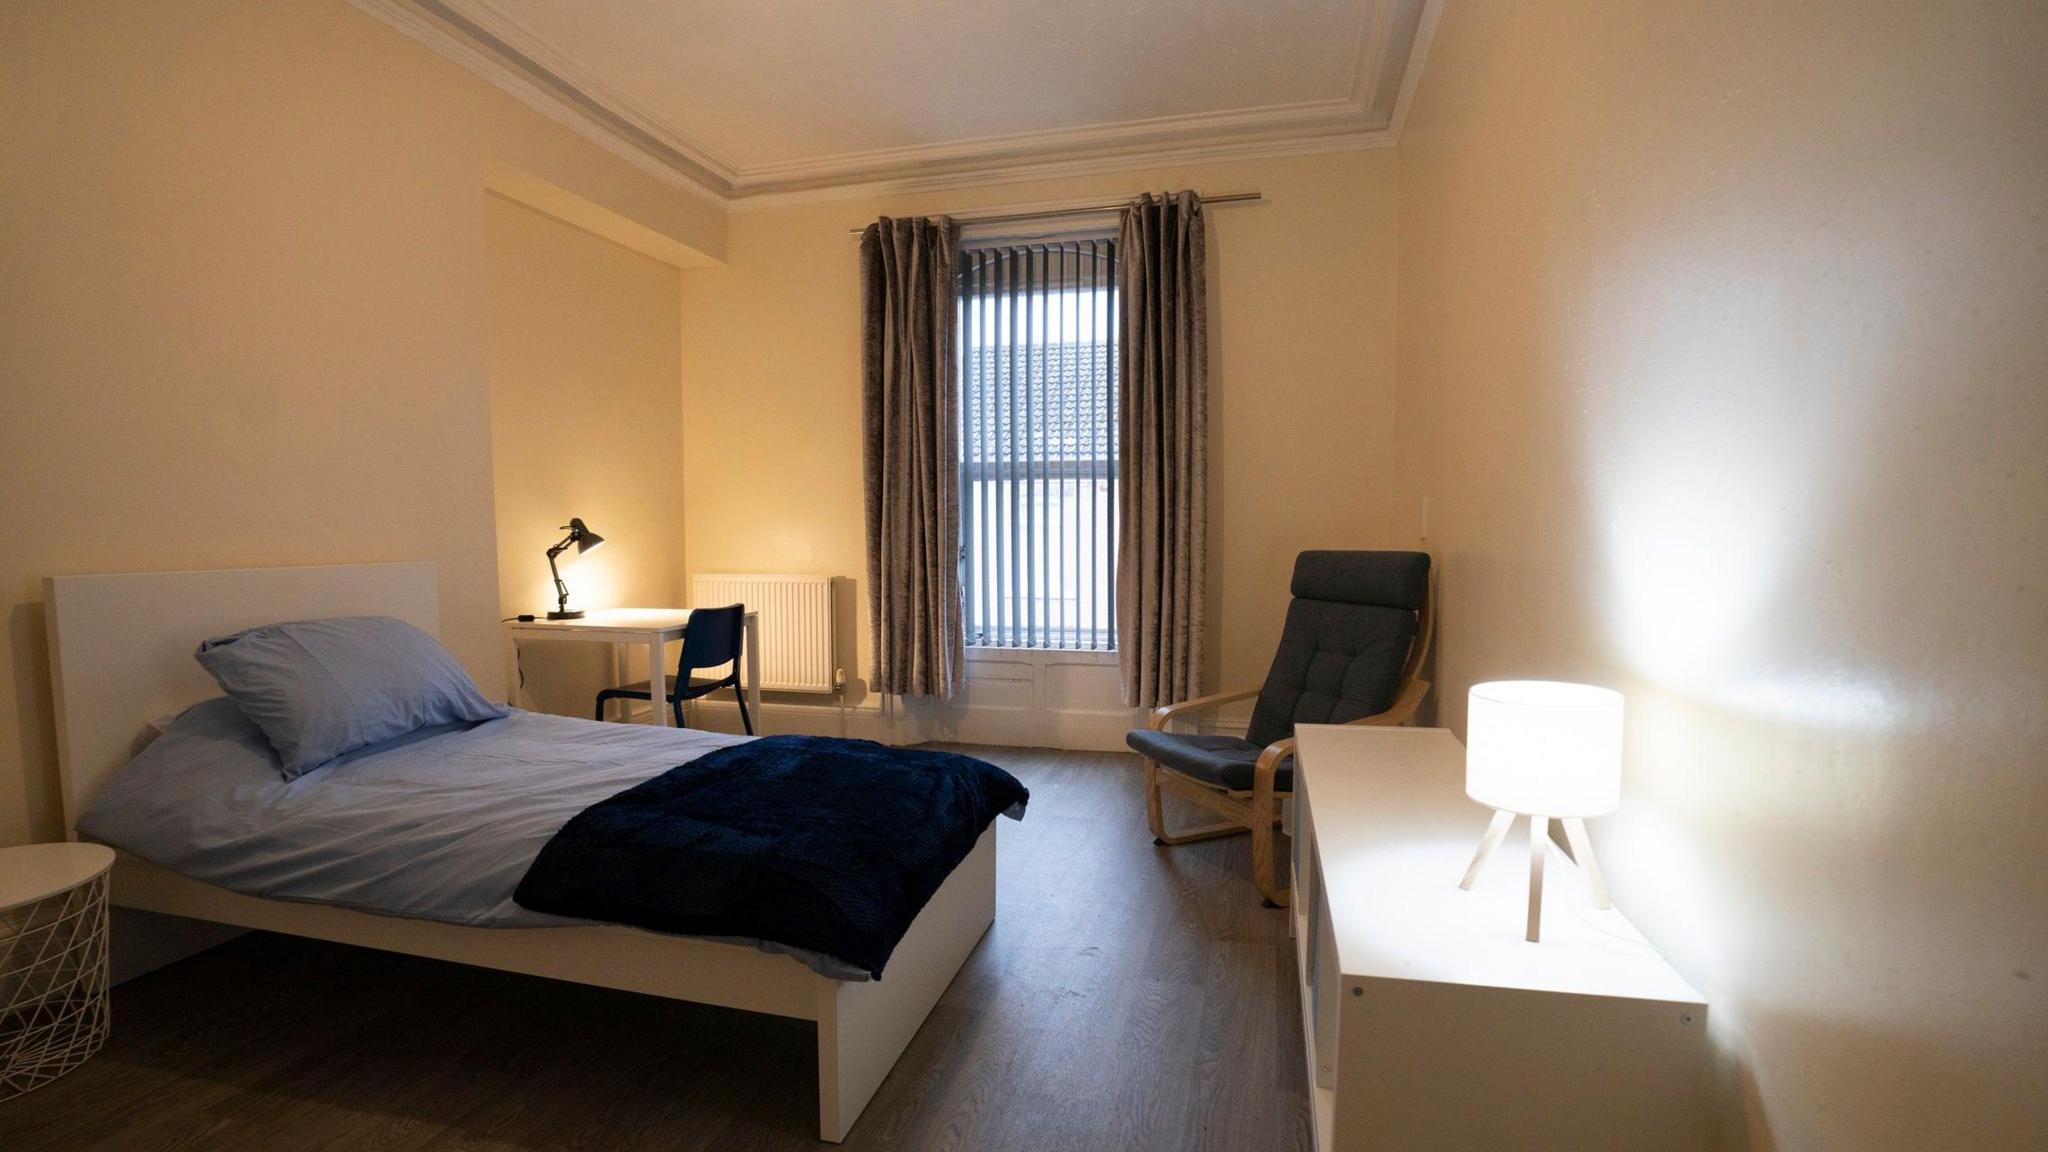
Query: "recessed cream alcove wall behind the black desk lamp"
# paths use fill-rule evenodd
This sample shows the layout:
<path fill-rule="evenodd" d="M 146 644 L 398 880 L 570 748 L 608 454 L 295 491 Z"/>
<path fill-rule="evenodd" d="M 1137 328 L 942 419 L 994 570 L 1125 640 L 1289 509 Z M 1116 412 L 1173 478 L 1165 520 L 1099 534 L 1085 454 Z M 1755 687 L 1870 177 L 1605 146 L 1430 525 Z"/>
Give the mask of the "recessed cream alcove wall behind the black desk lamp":
<path fill-rule="evenodd" d="M 500 615 L 555 607 L 545 553 L 569 517 L 604 537 L 559 562 L 571 607 L 680 605 L 678 271 L 496 195 L 483 225 Z M 520 660 L 541 711 L 590 715 L 616 683 L 596 644 L 526 642 Z M 639 652 L 627 674 L 647 674 Z"/>

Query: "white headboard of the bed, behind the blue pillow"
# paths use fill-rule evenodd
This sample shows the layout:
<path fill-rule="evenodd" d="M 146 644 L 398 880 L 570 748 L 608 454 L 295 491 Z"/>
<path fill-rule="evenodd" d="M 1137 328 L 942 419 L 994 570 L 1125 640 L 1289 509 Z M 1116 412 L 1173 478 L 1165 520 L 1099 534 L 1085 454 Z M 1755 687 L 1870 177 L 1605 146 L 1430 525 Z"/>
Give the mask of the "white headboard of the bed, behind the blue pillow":
<path fill-rule="evenodd" d="M 125 572 L 43 580 L 57 773 L 70 828 L 150 717 L 221 695 L 201 640 L 260 623 L 389 615 L 440 633 L 434 564 Z"/>

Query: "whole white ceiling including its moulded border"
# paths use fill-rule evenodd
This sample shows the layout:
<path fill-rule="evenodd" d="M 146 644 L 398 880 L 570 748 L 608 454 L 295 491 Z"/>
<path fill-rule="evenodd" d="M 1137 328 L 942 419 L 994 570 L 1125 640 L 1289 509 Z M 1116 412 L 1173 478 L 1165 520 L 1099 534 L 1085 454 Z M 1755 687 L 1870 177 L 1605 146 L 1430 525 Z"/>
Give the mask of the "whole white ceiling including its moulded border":
<path fill-rule="evenodd" d="M 1440 0 L 356 2 L 739 199 L 1391 143 Z"/>

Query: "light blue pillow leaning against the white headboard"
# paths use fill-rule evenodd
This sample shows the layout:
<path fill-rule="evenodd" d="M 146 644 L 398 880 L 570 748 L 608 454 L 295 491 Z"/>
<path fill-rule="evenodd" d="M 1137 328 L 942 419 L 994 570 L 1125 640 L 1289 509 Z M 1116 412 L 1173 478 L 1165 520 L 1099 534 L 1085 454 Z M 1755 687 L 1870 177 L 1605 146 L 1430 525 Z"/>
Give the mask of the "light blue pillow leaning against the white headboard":
<path fill-rule="evenodd" d="M 393 617 L 268 623 L 195 656 L 276 748 L 285 779 L 420 728 L 510 715 L 438 640 Z"/>

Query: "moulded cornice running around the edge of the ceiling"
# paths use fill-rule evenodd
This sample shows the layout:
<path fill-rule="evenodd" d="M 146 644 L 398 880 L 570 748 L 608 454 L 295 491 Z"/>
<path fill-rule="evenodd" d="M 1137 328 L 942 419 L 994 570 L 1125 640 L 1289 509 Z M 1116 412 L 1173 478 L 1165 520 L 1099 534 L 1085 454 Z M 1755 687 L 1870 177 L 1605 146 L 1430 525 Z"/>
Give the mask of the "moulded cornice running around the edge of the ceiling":
<path fill-rule="evenodd" d="M 639 168 L 733 209 L 1389 148 L 1444 0 L 1376 0 L 1348 100 L 1120 121 L 739 168 L 635 107 L 487 0 L 350 0 Z M 1399 76 L 1399 80 L 1393 80 Z"/>

